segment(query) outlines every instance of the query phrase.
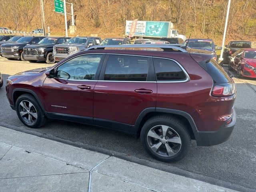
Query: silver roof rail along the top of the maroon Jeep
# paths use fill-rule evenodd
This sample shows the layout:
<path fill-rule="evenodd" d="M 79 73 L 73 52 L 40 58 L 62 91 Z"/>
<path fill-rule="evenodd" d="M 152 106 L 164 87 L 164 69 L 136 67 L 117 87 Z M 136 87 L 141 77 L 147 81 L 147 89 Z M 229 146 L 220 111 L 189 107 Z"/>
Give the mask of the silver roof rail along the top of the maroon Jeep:
<path fill-rule="evenodd" d="M 180 44 L 126 44 L 126 45 L 96 45 L 90 46 L 85 50 L 96 50 L 96 49 L 122 49 L 122 50 L 134 50 L 140 48 L 140 50 L 158 50 L 158 51 L 169 51 L 169 52 L 187 52 Z"/>

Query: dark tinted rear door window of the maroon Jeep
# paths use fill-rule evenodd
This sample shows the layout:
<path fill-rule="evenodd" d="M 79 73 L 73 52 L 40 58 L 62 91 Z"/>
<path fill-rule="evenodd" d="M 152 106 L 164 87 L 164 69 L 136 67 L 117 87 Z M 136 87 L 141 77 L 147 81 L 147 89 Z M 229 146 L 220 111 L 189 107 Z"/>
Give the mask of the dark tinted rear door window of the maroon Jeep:
<path fill-rule="evenodd" d="M 148 68 L 148 57 L 109 55 L 104 80 L 146 81 Z"/>

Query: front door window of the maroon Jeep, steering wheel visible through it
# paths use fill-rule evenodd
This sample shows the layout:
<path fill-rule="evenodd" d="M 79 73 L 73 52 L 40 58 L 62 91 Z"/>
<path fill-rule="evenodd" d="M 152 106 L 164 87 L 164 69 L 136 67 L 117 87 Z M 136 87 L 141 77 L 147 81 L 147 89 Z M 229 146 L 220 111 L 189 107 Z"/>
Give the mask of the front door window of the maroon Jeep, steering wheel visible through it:
<path fill-rule="evenodd" d="M 94 80 L 101 54 L 82 55 L 58 67 L 57 77 L 73 80 Z"/>

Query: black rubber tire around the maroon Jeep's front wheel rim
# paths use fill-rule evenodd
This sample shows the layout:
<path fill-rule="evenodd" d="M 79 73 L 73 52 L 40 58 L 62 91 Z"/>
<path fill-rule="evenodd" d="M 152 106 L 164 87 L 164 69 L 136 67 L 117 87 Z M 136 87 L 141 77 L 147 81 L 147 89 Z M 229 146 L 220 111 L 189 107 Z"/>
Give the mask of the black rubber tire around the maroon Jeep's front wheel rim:
<path fill-rule="evenodd" d="M 28 122 L 26 122 L 26 120 L 24 120 L 24 118 L 22 118 L 22 116 L 20 114 L 20 108 L 22 108 L 20 106 L 21 102 L 30 102 L 34 106 L 33 110 L 36 110 L 36 113 L 37 113 L 37 118 L 34 123 L 28 123 Z M 28 106 L 28 105 L 26 105 L 26 106 Z M 15 107 L 16 107 L 16 113 L 18 115 L 18 118 L 24 125 L 26 125 L 28 127 L 39 128 L 39 127 L 43 126 L 44 123 L 46 122 L 46 116 L 44 115 L 42 108 L 38 104 L 36 98 L 34 98 L 34 96 L 32 96 L 30 94 L 23 94 L 23 95 L 19 96 L 18 99 L 16 100 Z"/>

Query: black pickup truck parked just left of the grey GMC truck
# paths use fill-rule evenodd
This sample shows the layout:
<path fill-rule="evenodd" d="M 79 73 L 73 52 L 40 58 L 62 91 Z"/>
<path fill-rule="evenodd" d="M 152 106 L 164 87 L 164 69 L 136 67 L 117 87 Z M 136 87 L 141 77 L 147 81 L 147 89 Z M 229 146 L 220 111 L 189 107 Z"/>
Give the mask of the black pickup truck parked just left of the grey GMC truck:
<path fill-rule="evenodd" d="M 46 37 L 38 44 L 27 45 L 23 48 L 24 59 L 29 62 L 46 61 L 54 64 L 53 46 L 66 43 L 71 37 Z"/>

